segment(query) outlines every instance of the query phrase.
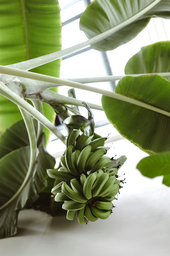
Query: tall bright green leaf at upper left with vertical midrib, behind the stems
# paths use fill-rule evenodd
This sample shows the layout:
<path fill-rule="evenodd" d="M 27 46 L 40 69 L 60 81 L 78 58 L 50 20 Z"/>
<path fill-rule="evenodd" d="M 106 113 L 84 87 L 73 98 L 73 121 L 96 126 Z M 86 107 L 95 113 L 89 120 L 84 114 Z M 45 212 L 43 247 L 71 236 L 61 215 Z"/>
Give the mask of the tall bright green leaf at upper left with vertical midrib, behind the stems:
<path fill-rule="evenodd" d="M 6 0 L 0 5 L 0 64 L 9 65 L 61 50 L 61 19 L 57 0 Z M 33 71 L 60 76 L 55 60 Z M 53 89 L 56 90 L 56 89 Z M 54 121 L 55 113 L 44 105 L 45 116 Z M 20 120 L 18 107 L 0 95 L 0 133 Z M 49 131 L 46 134 L 49 134 Z"/>

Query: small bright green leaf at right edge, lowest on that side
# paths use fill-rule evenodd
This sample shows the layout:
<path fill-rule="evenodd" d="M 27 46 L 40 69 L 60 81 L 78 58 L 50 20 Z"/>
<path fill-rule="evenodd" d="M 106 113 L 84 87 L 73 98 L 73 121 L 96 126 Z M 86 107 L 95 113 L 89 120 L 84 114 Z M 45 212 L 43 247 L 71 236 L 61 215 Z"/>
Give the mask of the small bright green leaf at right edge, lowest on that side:
<path fill-rule="evenodd" d="M 137 164 L 137 169 L 149 178 L 165 175 L 163 183 L 170 186 L 170 152 L 145 157 Z"/>

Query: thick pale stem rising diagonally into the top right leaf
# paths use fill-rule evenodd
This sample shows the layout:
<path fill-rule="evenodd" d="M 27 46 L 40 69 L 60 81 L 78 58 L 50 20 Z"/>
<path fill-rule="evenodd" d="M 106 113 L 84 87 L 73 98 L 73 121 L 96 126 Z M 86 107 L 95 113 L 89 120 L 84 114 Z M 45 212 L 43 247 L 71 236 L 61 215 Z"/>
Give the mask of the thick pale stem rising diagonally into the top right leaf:
<path fill-rule="evenodd" d="M 146 8 L 142 9 L 141 11 L 137 12 L 135 15 L 133 15 L 132 17 L 130 17 L 129 19 L 123 21 L 122 23 L 118 24 L 115 27 L 112 27 L 110 29 L 108 29 L 107 31 L 94 36 L 93 38 L 83 42 L 83 43 L 79 43 L 75 46 L 72 46 L 70 48 L 58 51 L 58 52 L 54 52 L 54 53 L 50 53 L 32 60 L 26 60 L 26 61 L 22 61 L 20 63 L 16 63 L 16 64 L 12 64 L 9 65 L 10 67 L 15 67 L 18 69 L 22 69 L 22 70 L 30 70 L 32 68 L 41 66 L 43 64 L 46 64 L 48 62 L 51 62 L 53 60 L 57 60 L 59 58 L 62 58 L 66 55 L 69 55 L 71 53 L 74 53 L 80 49 L 83 49 L 91 44 L 94 43 L 98 43 L 99 41 L 111 36 L 112 34 L 116 33 L 117 31 L 119 31 L 120 29 L 122 29 L 123 27 L 133 23 L 135 20 L 137 20 L 139 17 L 141 17 L 142 15 L 144 15 L 146 12 L 148 12 L 150 9 L 152 9 L 155 5 L 157 5 L 161 0 L 155 0 L 154 2 L 150 3 Z"/>

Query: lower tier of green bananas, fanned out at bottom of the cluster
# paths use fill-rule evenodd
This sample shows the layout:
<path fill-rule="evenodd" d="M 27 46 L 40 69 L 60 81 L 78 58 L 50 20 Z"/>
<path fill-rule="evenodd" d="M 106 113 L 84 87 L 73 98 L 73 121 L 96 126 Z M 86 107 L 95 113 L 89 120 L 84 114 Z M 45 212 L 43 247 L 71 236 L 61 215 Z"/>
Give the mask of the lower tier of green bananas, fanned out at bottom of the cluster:
<path fill-rule="evenodd" d="M 73 220 L 75 213 L 80 224 L 88 220 L 94 222 L 106 219 L 112 213 L 112 201 L 120 189 L 120 180 L 116 179 L 117 171 L 96 171 L 86 178 L 71 179 L 70 186 L 62 181 L 52 191 L 55 201 L 64 201 L 62 208 L 67 210 L 67 219 Z M 61 189 L 61 192 L 59 192 Z"/>

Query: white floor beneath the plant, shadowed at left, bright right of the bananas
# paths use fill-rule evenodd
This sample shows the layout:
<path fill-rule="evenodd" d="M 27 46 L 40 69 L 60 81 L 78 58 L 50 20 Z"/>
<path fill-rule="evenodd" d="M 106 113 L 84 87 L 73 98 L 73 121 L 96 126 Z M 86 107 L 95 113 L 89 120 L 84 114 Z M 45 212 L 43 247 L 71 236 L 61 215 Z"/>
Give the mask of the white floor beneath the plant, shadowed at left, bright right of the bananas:
<path fill-rule="evenodd" d="M 0 255 L 169 256 L 170 188 L 135 169 L 144 152 L 126 140 L 113 146 L 112 152 L 128 157 L 120 170 L 127 183 L 108 219 L 81 226 L 76 219 L 23 210 L 18 234 L 0 241 Z"/>

